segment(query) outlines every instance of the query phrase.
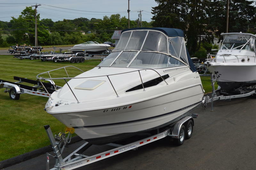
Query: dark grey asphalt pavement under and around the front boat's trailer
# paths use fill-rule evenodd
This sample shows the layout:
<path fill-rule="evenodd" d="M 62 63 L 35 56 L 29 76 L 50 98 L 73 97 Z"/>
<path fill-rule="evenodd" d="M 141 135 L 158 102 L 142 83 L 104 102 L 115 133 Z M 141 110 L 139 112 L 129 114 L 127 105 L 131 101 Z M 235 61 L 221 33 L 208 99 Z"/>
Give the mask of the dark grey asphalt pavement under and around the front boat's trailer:
<path fill-rule="evenodd" d="M 195 113 L 199 115 L 195 119 L 193 135 L 183 145 L 176 146 L 172 138 L 165 137 L 136 151 L 127 151 L 77 170 L 256 169 L 255 103 L 256 97 L 215 101 L 213 112 L 210 112 L 210 104 L 206 110 L 196 109 Z M 69 146 L 64 154 L 83 142 Z M 92 155 L 112 148 L 92 145 L 84 154 Z M 50 168 L 54 163 L 54 158 L 50 158 Z M 5 169 L 46 169 L 46 156 Z"/>

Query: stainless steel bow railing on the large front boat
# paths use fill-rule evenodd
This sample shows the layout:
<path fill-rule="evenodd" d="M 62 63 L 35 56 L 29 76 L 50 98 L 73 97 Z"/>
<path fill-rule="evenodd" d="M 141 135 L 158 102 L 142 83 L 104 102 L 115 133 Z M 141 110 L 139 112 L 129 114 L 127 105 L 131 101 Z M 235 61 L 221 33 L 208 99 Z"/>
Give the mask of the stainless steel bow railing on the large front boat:
<path fill-rule="evenodd" d="M 109 80 L 109 82 L 110 82 L 112 88 L 114 89 L 114 91 L 115 91 L 115 93 L 116 93 L 116 97 L 119 97 L 119 96 L 118 96 L 118 94 L 117 94 L 117 92 L 116 92 L 116 89 L 114 88 L 114 86 L 113 86 L 113 84 L 112 84 L 112 82 L 111 82 L 111 80 L 110 80 L 110 78 L 109 78 L 109 76 L 112 76 L 112 75 L 126 74 L 126 73 L 132 73 L 132 72 L 139 72 L 140 81 L 141 81 L 141 84 L 142 84 L 142 87 L 143 87 L 143 91 L 146 91 L 145 88 L 144 88 L 144 85 L 143 85 L 143 81 L 142 81 L 142 78 L 141 78 L 140 71 L 142 71 L 142 70 L 153 70 L 153 71 L 155 71 L 155 72 L 162 78 L 162 80 L 166 83 L 166 85 L 168 85 L 168 83 L 164 80 L 164 78 L 163 78 L 156 70 L 151 69 L 151 68 L 145 68 L 145 69 L 140 69 L 140 70 L 135 70 L 135 71 L 130 71 L 130 72 L 124 72 L 124 73 L 100 75 L 100 76 L 69 77 L 68 72 L 67 72 L 67 70 L 66 70 L 67 67 L 74 67 L 74 68 L 76 68 L 76 69 L 82 71 L 81 69 L 79 69 L 79 68 L 77 68 L 77 67 L 75 67 L 75 66 L 64 66 L 64 67 L 60 67 L 60 68 L 57 68 L 57 69 L 54 69 L 54 70 L 50 70 L 50 71 L 47 71 L 47 72 L 44 72 L 44 73 L 40 73 L 40 74 L 38 74 L 38 75 L 36 76 L 36 78 L 37 78 L 40 82 L 41 82 L 41 80 L 46 80 L 46 79 L 48 79 L 48 80 L 49 80 L 49 79 L 50 79 L 50 80 L 64 80 L 64 81 L 66 82 L 66 84 L 68 85 L 68 88 L 69 88 L 70 91 L 72 92 L 73 96 L 76 98 L 77 103 L 80 103 L 80 102 L 78 101 L 78 99 L 77 99 L 75 93 L 73 92 L 73 90 L 72 90 L 71 87 L 69 86 L 67 79 L 85 79 L 85 78 L 95 78 L 95 77 L 104 77 L 104 76 L 106 76 L 106 77 L 108 78 L 108 80 Z M 52 78 L 51 75 L 50 75 L 50 72 L 56 71 L 56 70 L 60 70 L 60 69 L 64 69 L 68 77 Z M 84 71 L 82 71 L 82 72 L 84 72 Z M 50 78 L 44 78 L 44 77 L 41 77 L 41 76 L 40 76 L 40 75 L 45 74 L 45 73 L 48 73 L 48 75 L 49 75 Z M 44 87 L 44 84 L 43 84 L 42 82 L 41 82 L 41 84 L 42 84 L 42 86 Z M 54 85 L 54 86 L 55 86 L 55 85 Z M 55 87 L 54 87 L 54 88 L 55 88 Z M 51 95 L 49 94 L 49 92 L 47 91 L 47 89 L 46 89 L 45 87 L 44 87 L 44 89 L 45 89 L 45 91 L 47 92 L 47 94 L 50 96 L 50 98 L 52 99 L 52 97 L 51 97 Z M 55 88 L 55 90 L 56 90 L 56 88 Z"/>

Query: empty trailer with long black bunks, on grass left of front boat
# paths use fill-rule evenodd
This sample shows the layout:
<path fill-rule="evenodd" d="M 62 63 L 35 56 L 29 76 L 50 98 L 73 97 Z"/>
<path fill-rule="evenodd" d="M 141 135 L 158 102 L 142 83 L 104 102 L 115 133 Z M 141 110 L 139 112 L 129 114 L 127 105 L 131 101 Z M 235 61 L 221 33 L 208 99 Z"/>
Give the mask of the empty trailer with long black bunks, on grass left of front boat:
<path fill-rule="evenodd" d="M 31 94 L 36 96 L 50 97 L 50 95 L 61 89 L 60 86 L 56 86 L 52 80 L 47 80 L 49 82 L 41 82 L 37 80 L 31 80 L 22 77 L 13 77 L 14 80 L 18 80 L 17 82 L 11 82 L 6 80 L 0 80 L 0 89 L 5 88 L 4 92 L 9 92 L 9 96 L 12 100 L 19 100 L 20 94 Z M 31 83 L 34 86 L 27 86 L 20 83 Z"/>

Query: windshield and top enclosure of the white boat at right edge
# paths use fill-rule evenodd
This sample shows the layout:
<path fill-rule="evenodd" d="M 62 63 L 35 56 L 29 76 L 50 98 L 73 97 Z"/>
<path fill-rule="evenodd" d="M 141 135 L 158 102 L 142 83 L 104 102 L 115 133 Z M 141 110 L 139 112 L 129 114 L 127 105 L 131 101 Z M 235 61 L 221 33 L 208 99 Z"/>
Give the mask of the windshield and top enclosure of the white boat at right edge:
<path fill-rule="evenodd" d="M 255 51 L 255 38 L 246 34 L 224 34 L 221 50 Z"/>

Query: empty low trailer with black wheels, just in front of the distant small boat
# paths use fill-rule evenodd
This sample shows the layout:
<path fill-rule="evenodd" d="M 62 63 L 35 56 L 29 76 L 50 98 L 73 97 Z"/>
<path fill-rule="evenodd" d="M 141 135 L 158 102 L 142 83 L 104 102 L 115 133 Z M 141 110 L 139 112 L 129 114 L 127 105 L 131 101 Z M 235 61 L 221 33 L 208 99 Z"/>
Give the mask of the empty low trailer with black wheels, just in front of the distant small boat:
<path fill-rule="evenodd" d="M 84 57 L 86 56 L 83 52 L 77 53 L 64 53 L 64 54 L 46 54 L 41 55 L 41 61 L 53 61 L 53 62 L 63 62 L 69 61 L 70 63 L 83 63 Z"/>

